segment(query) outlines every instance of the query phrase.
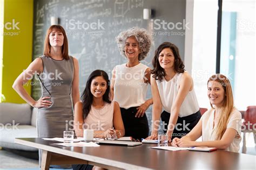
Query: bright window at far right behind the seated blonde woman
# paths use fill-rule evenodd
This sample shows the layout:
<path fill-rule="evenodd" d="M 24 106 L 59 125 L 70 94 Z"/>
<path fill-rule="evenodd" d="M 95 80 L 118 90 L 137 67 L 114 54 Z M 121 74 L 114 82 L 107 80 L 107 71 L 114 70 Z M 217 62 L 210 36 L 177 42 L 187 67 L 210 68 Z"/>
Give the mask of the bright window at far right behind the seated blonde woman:
<path fill-rule="evenodd" d="M 255 1 L 223 0 L 220 73 L 231 81 L 238 110 L 256 105 Z"/>

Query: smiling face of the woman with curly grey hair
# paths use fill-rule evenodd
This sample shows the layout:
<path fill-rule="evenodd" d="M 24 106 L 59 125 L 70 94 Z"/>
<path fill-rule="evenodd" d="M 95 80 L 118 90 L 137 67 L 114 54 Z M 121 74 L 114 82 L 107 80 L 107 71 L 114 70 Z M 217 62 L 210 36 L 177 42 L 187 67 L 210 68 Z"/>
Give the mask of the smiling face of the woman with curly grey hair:
<path fill-rule="evenodd" d="M 125 41 L 125 56 L 128 59 L 139 58 L 139 43 L 137 42 L 135 37 L 129 37 Z"/>

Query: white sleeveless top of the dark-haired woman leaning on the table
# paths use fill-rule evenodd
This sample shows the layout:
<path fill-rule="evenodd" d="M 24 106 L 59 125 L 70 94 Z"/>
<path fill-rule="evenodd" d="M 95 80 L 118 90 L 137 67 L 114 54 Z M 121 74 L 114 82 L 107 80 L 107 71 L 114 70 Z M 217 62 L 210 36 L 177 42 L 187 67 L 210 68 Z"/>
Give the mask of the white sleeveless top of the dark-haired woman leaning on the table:
<path fill-rule="evenodd" d="M 179 81 L 183 73 L 176 73 L 175 76 L 166 81 L 156 80 L 161 103 L 166 112 L 171 113 L 172 104 L 177 98 L 179 90 Z M 199 111 L 199 105 L 194 89 L 187 93 L 183 103 L 180 106 L 179 117 L 185 117 Z"/>

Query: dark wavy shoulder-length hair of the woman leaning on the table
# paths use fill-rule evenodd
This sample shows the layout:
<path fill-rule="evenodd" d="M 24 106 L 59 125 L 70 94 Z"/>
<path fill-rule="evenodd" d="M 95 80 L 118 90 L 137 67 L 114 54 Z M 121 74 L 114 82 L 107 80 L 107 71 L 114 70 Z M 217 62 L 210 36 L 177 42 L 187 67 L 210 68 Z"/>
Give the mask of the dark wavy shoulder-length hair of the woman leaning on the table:
<path fill-rule="evenodd" d="M 165 73 L 164 69 L 160 66 L 158 57 L 159 57 L 160 52 L 166 48 L 171 49 L 172 53 L 174 55 L 174 71 L 177 73 L 184 73 L 184 71 L 185 71 L 184 64 L 179 55 L 178 47 L 170 42 L 164 42 L 161 45 L 159 45 L 157 50 L 154 52 L 154 58 L 152 59 L 152 65 L 153 65 L 154 69 L 151 71 L 151 73 L 153 74 L 153 77 L 156 80 L 160 80 L 160 81 L 163 80 L 163 78 L 166 76 L 166 73 Z"/>

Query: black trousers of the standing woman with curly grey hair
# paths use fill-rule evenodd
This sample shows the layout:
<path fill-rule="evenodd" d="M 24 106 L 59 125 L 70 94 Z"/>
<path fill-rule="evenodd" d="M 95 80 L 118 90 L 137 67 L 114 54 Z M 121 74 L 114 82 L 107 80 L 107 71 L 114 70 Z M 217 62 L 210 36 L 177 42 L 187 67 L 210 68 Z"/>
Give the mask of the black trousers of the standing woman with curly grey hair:
<path fill-rule="evenodd" d="M 142 140 L 142 138 L 149 136 L 149 123 L 146 114 L 144 114 L 143 117 L 135 117 L 137 113 L 136 108 L 137 107 L 130 107 L 128 109 L 120 108 L 124 123 L 125 137 Z"/>

